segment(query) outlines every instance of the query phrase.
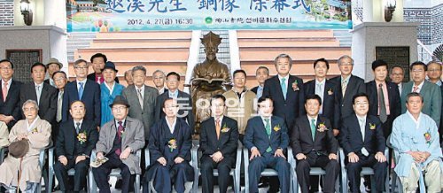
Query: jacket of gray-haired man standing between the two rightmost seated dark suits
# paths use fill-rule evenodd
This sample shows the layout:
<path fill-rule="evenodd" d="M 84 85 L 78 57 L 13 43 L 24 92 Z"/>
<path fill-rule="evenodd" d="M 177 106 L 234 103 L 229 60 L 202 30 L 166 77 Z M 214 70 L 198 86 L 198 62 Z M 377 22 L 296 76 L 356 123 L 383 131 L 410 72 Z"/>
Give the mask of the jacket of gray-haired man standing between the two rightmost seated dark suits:
<path fill-rule="evenodd" d="M 338 87 L 338 101 L 340 102 L 340 120 L 343 120 L 347 116 L 354 113 L 353 108 L 353 97 L 358 93 L 366 92 L 366 86 L 364 81 L 357 76 L 351 75 L 349 82 L 347 82 L 345 97 L 343 97 L 343 92 L 341 90 L 341 76 L 330 79 Z M 340 128 L 341 129 L 341 128 Z"/>

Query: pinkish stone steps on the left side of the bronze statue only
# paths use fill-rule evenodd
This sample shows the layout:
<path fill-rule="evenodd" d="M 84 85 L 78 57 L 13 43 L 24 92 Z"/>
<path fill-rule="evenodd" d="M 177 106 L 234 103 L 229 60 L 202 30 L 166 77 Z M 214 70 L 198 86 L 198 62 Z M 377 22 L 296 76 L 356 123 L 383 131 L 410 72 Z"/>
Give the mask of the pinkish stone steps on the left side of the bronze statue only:
<path fill-rule="evenodd" d="M 156 70 L 165 73 L 175 71 L 184 80 L 190 39 L 190 31 L 97 33 L 89 47 L 74 50 L 74 58 L 89 60 L 97 52 L 105 54 L 108 60 L 115 63 L 123 85 L 126 85 L 123 77 L 125 71 L 134 66 L 144 66 L 148 75 L 146 83 L 153 86 L 152 73 Z M 91 72 L 92 69 L 89 68 L 89 73 Z M 75 76 L 72 63 L 69 66 L 69 76 Z"/>

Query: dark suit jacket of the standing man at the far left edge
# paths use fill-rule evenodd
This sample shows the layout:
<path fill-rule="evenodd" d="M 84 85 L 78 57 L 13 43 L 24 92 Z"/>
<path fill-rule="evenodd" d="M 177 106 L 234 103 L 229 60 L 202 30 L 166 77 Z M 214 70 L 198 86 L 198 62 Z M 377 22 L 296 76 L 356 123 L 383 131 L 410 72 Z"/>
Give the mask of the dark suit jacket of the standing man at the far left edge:
<path fill-rule="evenodd" d="M 4 81 L 0 79 L 0 86 L 3 87 Z M 12 116 L 15 120 L 12 120 L 8 124 L 8 128 L 11 129 L 12 126 L 19 120 L 21 120 L 21 106 L 20 106 L 20 87 L 22 83 L 20 81 L 11 81 L 11 86 L 8 90 L 8 96 L 6 96 L 6 101 L 3 101 L 3 92 L 0 92 L 0 114 L 6 116 Z"/>

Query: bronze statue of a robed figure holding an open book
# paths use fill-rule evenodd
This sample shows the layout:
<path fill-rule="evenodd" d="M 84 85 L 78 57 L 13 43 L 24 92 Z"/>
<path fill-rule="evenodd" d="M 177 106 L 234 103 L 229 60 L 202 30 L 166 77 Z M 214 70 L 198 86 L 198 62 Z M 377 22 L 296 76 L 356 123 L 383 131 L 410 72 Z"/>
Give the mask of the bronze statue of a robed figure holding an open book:
<path fill-rule="evenodd" d="M 199 134 L 201 121 L 211 117 L 211 97 L 223 94 L 231 82 L 228 66 L 216 57 L 221 43 L 220 35 L 209 32 L 203 35 L 201 42 L 205 46 L 206 59 L 194 67 L 191 78 L 192 112 L 196 118 L 195 134 Z"/>

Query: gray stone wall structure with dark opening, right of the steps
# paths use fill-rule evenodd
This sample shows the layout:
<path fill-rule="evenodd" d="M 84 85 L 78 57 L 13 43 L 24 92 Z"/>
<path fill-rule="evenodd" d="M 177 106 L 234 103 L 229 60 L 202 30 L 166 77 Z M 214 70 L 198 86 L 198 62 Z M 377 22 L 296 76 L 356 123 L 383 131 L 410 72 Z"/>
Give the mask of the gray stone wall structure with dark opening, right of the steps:
<path fill-rule="evenodd" d="M 409 64 L 416 61 L 416 27 L 418 25 L 419 23 L 417 22 L 363 22 L 360 25 L 355 26 L 352 31 L 354 75 L 360 76 L 365 81 L 374 79 L 371 64 L 377 59 L 376 47 L 408 47 Z M 382 59 L 385 60 L 385 58 Z M 386 62 L 388 62 L 389 66 L 404 66 L 404 64 L 389 64 L 390 61 Z M 392 63 L 394 62 L 392 61 Z"/>

